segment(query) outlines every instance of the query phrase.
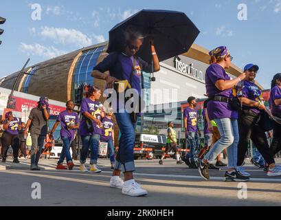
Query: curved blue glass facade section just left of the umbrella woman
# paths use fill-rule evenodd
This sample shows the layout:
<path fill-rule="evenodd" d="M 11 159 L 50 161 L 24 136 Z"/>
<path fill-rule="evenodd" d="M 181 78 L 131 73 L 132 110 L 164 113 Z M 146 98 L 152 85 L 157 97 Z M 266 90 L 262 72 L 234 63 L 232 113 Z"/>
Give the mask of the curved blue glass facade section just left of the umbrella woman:
<path fill-rule="evenodd" d="M 93 85 L 93 78 L 91 77 L 91 72 L 93 67 L 97 65 L 98 58 L 103 52 L 105 46 L 95 47 L 92 50 L 88 50 L 83 52 L 82 56 L 80 56 L 79 61 L 74 68 L 73 81 L 74 81 L 74 89 L 72 89 L 72 99 L 76 101 L 76 103 L 80 102 L 80 94 L 83 85 Z"/>

